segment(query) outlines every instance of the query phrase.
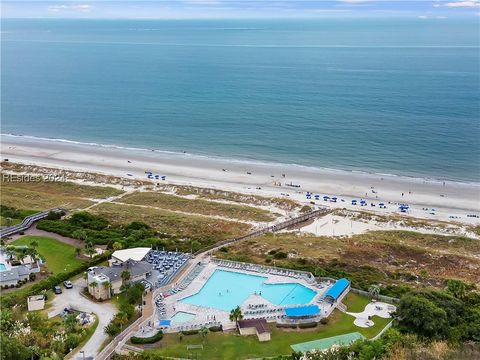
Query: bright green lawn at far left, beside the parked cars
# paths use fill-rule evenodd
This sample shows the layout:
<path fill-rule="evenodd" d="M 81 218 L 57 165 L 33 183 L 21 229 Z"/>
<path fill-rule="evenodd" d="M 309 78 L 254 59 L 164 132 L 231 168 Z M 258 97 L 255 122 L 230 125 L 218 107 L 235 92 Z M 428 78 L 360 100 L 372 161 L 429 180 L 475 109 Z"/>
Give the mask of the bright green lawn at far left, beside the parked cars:
<path fill-rule="evenodd" d="M 45 259 L 47 269 L 54 274 L 71 271 L 83 264 L 77 259 L 75 247 L 44 236 L 24 236 L 12 242 L 12 245 L 30 245 L 38 243 L 37 251 Z"/>

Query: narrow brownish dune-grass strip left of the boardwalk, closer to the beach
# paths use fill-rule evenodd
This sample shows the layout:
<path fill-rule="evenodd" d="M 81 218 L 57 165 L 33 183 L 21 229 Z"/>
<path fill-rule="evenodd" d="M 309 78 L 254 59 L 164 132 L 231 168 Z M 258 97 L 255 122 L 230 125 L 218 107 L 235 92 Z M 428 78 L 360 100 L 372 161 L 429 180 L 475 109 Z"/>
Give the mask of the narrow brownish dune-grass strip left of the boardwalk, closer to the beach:
<path fill-rule="evenodd" d="M 222 216 L 237 220 L 266 222 L 275 219 L 269 211 L 252 206 L 225 204 L 203 199 L 185 199 L 159 192 L 135 192 L 122 197 L 119 201 L 126 204 L 148 205 L 164 210 Z"/>

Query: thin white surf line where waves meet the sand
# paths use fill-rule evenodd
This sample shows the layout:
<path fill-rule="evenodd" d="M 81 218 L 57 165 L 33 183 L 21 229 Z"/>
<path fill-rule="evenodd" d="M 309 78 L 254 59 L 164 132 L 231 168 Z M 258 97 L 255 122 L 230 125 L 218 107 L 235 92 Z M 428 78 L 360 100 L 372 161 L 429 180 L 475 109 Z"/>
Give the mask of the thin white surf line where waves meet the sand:
<path fill-rule="evenodd" d="M 260 167 L 275 167 L 275 168 L 290 167 L 290 168 L 304 169 L 304 170 L 313 171 L 313 172 L 320 171 L 320 172 L 329 172 L 329 173 L 357 174 L 357 175 L 374 176 L 374 177 L 390 177 L 390 178 L 397 178 L 397 179 L 403 178 L 408 181 L 428 181 L 430 183 L 438 183 L 438 184 L 441 184 L 445 181 L 451 184 L 480 186 L 479 182 L 474 182 L 474 181 L 436 179 L 431 177 L 416 177 L 416 176 L 409 176 L 404 174 L 398 175 L 398 174 L 392 174 L 392 173 L 368 172 L 368 171 L 355 170 L 355 169 L 315 167 L 315 166 L 308 166 L 308 165 L 295 164 L 295 163 L 281 163 L 281 162 L 269 162 L 269 161 L 261 161 L 261 160 L 225 158 L 225 157 L 214 156 L 214 155 L 190 154 L 190 153 L 182 153 L 182 152 L 169 151 L 169 150 L 125 147 L 121 145 L 100 144 L 95 142 L 82 142 L 82 141 L 76 141 L 76 140 L 48 138 L 48 137 L 40 137 L 40 136 L 33 136 L 33 135 L 0 133 L 0 137 L 2 136 L 11 137 L 11 138 L 24 138 L 24 139 L 31 139 L 35 141 L 45 141 L 45 142 L 52 142 L 52 143 L 58 142 L 58 143 L 66 143 L 66 144 L 73 144 L 73 145 L 80 145 L 80 146 L 100 147 L 100 148 L 107 148 L 107 149 L 138 151 L 138 152 L 147 152 L 147 153 L 154 152 L 154 153 L 173 155 L 173 156 L 179 156 L 179 157 L 188 156 L 193 159 L 203 159 L 207 161 L 217 161 L 217 162 L 223 162 L 223 163 L 228 162 L 228 163 L 234 163 L 234 164 L 241 164 L 244 166 L 253 165 L 253 166 L 260 166 Z"/>

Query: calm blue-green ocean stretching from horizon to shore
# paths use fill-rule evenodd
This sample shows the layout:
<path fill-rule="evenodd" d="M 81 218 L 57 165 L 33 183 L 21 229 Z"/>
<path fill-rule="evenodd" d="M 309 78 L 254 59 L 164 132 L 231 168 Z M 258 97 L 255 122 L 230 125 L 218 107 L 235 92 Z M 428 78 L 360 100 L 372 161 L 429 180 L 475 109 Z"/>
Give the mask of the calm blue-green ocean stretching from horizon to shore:
<path fill-rule="evenodd" d="M 2 19 L 1 132 L 480 182 L 478 19 Z"/>

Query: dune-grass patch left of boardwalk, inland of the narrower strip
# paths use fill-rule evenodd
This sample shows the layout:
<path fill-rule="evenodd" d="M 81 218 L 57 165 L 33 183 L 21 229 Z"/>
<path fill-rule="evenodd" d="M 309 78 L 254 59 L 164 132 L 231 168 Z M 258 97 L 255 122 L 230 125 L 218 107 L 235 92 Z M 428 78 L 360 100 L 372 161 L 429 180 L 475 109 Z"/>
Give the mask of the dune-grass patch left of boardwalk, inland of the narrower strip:
<path fill-rule="evenodd" d="M 142 208 L 124 204 L 103 203 L 91 209 L 113 224 L 142 221 L 159 233 L 179 241 L 197 240 L 202 245 L 246 234 L 251 226 L 245 223 L 219 220 L 198 215 L 179 214 L 168 210 Z"/>

